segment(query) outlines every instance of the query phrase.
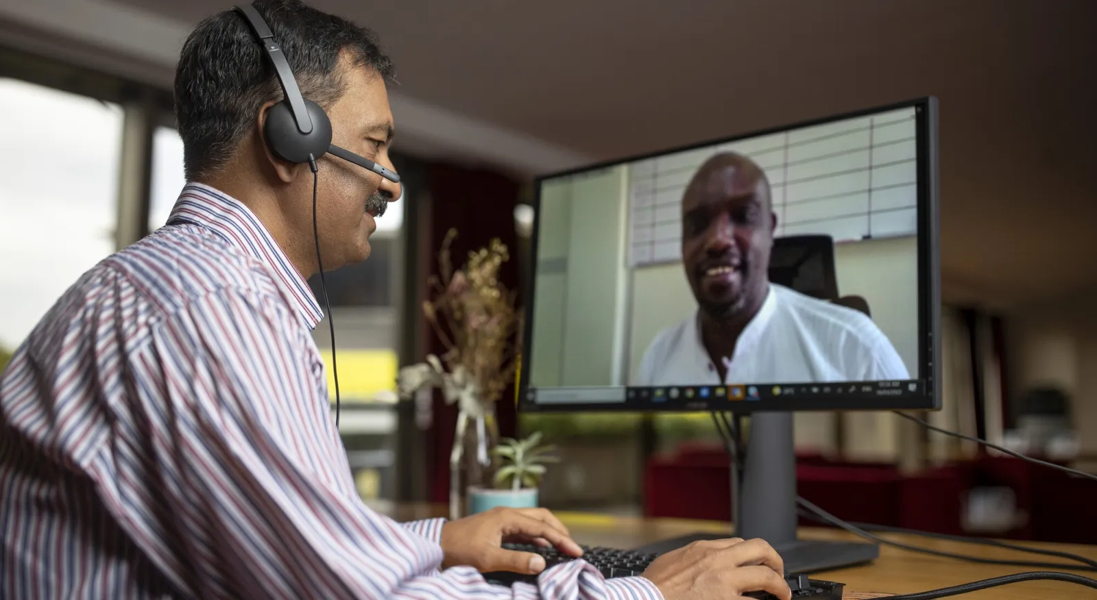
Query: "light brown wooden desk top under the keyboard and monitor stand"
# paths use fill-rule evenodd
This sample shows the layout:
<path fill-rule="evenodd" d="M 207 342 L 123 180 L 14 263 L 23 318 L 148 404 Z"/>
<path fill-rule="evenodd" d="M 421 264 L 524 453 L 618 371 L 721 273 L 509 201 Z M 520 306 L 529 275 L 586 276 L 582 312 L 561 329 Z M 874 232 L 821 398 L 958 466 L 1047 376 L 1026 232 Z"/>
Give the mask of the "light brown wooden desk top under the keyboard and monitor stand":
<path fill-rule="evenodd" d="M 445 507 L 436 505 L 411 504 L 378 508 L 399 521 L 445 516 Z M 728 523 L 713 521 L 640 519 L 570 512 L 556 512 L 556 516 L 559 517 L 561 521 L 563 521 L 564 524 L 566 524 L 570 530 L 572 536 L 575 541 L 584 545 L 629 549 L 668 538 L 685 535 L 695 531 L 731 531 L 731 526 Z M 860 540 L 859 538 L 845 531 L 816 528 L 802 529 L 800 536 L 805 540 Z M 981 558 L 1004 558 L 1049 563 L 1067 562 L 1065 558 L 1058 558 L 1053 556 L 1027 554 L 985 545 L 930 540 L 926 538 L 918 538 L 916 535 L 885 534 L 883 536 L 889 540 L 905 542 L 919 547 L 928 547 L 957 554 L 968 554 Z M 1097 546 L 1093 545 L 1048 544 L 1037 542 L 1026 542 L 1024 545 L 1047 550 L 1058 550 L 1061 552 L 1071 552 L 1097 561 Z M 885 545 L 880 549 L 880 557 L 872 564 L 813 574 L 813 577 L 846 584 L 845 598 L 853 600 L 857 598 L 874 598 L 877 597 L 875 593 L 911 593 L 927 591 L 930 589 L 975 581 L 977 579 L 986 579 L 989 577 L 998 577 L 1002 575 L 1009 575 L 1011 573 L 1030 570 L 1047 569 L 984 565 L 953 558 L 930 556 L 928 554 L 909 552 Z M 1097 578 L 1097 573 L 1094 572 L 1070 569 L 1054 570 L 1065 570 L 1067 573 L 1075 573 L 1085 577 Z M 1068 600 L 1073 600 L 1075 598 L 1097 599 L 1097 590 L 1060 581 L 1025 581 L 991 588 L 979 592 L 965 593 L 954 598 L 961 598 L 963 600 L 1042 600 L 1044 598 Z"/>

